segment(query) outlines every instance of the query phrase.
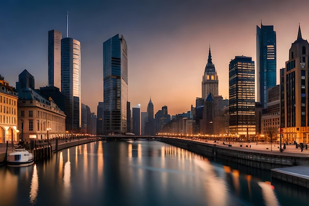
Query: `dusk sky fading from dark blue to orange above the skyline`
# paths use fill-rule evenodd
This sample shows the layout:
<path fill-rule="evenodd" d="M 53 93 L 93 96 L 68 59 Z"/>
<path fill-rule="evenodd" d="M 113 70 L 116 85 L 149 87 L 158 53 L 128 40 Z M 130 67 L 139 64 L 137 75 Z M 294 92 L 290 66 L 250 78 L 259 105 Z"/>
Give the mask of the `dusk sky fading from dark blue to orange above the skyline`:
<path fill-rule="evenodd" d="M 128 46 L 128 101 L 154 114 L 188 112 L 201 97 L 209 45 L 219 95 L 229 98 L 229 63 L 256 61 L 256 26 L 273 25 L 279 69 L 301 26 L 309 37 L 307 0 L 1 0 L 0 75 L 15 87 L 24 70 L 48 84 L 48 31 L 81 44 L 81 102 L 97 113 L 103 101 L 103 42 L 122 34 Z"/>

